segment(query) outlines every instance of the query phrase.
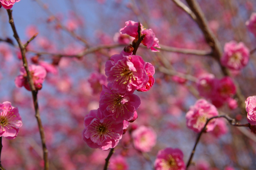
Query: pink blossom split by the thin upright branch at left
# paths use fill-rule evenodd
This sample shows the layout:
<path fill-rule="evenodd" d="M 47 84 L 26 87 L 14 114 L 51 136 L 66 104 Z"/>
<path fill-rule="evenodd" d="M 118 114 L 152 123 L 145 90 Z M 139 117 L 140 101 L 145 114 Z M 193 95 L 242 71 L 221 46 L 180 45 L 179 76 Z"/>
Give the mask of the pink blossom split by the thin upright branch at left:
<path fill-rule="evenodd" d="M 36 90 L 40 90 L 46 77 L 46 70 L 44 69 L 44 67 L 34 64 L 29 65 L 28 69 L 31 73 Z M 15 78 L 15 85 L 16 87 L 24 86 L 27 90 L 30 91 L 30 86 L 27 80 L 27 72 L 24 67 L 20 68 L 20 76 L 17 76 Z"/>

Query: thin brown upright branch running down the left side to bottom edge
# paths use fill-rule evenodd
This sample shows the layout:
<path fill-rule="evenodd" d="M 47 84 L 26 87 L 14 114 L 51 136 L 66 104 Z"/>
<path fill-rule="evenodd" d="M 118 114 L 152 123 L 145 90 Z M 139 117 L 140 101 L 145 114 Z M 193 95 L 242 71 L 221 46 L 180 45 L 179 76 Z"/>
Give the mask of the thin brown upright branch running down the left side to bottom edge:
<path fill-rule="evenodd" d="M 38 102 L 37 102 L 37 90 L 34 86 L 32 75 L 31 75 L 31 73 L 29 71 L 29 68 L 28 68 L 28 61 L 27 61 L 27 58 L 26 58 L 25 46 L 22 44 L 22 42 L 20 40 L 20 37 L 17 33 L 17 30 L 15 28 L 15 25 L 14 25 L 14 20 L 12 18 L 12 10 L 7 10 L 7 13 L 8 13 L 8 16 L 9 16 L 9 23 L 12 27 L 13 36 L 16 39 L 16 41 L 18 42 L 19 47 L 20 47 L 23 66 L 24 66 L 24 68 L 27 72 L 28 83 L 29 83 L 29 86 L 30 86 L 30 89 L 31 89 L 31 92 L 32 92 L 32 96 L 33 96 L 33 104 L 34 104 L 34 107 L 35 107 L 35 116 L 36 116 L 36 120 L 37 120 L 37 123 L 38 123 L 38 128 L 39 128 L 39 131 L 40 131 L 40 137 L 41 137 L 42 146 L 43 146 L 44 170 L 49 170 L 48 150 L 46 148 L 44 128 L 43 128 L 42 121 L 41 121 L 40 114 L 39 114 L 39 108 L 38 108 Z"/>

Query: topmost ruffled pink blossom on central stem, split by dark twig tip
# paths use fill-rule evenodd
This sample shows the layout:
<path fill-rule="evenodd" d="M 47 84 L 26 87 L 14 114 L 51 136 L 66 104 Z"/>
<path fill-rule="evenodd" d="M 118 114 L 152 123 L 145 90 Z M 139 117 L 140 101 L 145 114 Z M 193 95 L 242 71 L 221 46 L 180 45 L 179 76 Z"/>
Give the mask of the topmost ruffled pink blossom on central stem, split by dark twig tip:
<path fill-rule="evenodd" d="M 121 28 L 120 32 L 122 34 L 128 34 L 128 35 L 134 37 L 135 40 L 138 40 L 138 26 L 139 26 L 139 23 L 129 20 L 129 21 L 125 22 L 125 25 L 126 26 L 124 26 L 124 28 Z M 156 35 L 153 32 L 153 30 L 152 29 L 145 29 L 142 26 L 142 24 L 140 24 L 140 28 L 141 28 L 141 35 L 145 35 L 143 40 L 141 41 L 141 43 L 144 46 L 147 46 L 147 48 L 150 48 L 151 51 L 158 52 L 159 50 L 157 50 L 154 47 L 157 47 L 157 48 L 161 48 L 161 47 L 158 44 L 159 40 L 156 38 Z"/>

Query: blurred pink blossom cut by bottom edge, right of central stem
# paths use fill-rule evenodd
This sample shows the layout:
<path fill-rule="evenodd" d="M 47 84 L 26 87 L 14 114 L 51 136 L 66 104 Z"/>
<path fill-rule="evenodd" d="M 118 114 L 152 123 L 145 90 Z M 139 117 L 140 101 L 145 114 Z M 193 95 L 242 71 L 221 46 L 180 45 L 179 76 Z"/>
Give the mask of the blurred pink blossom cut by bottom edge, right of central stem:
<path fill-rule="evenodd" d="M 123 156 L 118 155 L 110 159 L 109 170 L 128 170 L 129 166 Z"/>

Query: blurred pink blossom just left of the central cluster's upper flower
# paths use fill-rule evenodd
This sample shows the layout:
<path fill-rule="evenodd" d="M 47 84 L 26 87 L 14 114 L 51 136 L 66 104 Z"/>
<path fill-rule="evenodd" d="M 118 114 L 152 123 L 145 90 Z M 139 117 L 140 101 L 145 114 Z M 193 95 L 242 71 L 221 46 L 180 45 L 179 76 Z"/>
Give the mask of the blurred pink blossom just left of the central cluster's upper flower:
<path fill-rule="evenodd" d="M 91 73 L 88 82 L 90 83 L 93 94 L 98 94 L 102 90 L 102 85 L 107 85 L 107 77 L 98 72 Z"/>

